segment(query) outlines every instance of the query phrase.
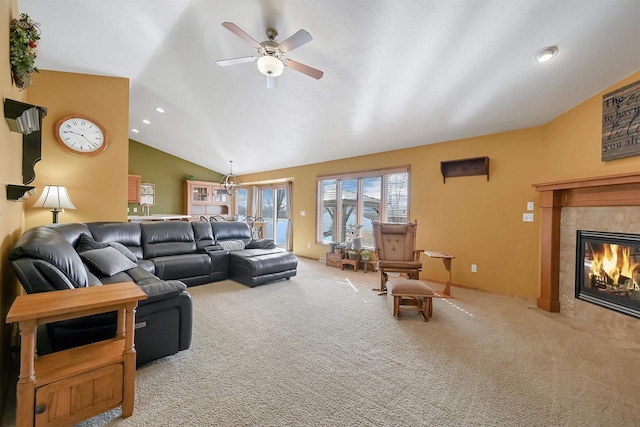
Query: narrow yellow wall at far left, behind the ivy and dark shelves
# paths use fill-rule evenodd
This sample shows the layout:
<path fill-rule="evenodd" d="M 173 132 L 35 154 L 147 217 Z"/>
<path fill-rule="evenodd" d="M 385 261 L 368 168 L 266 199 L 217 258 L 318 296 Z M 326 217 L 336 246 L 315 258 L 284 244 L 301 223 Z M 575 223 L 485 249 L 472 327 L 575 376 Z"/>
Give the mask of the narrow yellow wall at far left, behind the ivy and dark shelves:
<path fill-rule="evenodd" d="M 25 102 L 26 93 L 18 91 L 11 82 L 9 68 L 9 24 L 17 18 L 17 0 L 0 2 L 0 93 L 5 99 Z M 3 107 L 4 111 L 4 107 Z M 4 114 L 2 115 L 4 117 Z M 5 387 L 9 375 L 12 325 L 4 319 L 16 295 L 20 292 L 15 275 L 7 259 L 11 247 L 20 237 L 24 226 L 24 204 L 8 201 L 7 184 L 22 184 L 22 135 L 11 132 L 5 120 L 0 123 L 0 415 L 4 408 Z M 1 419 L 1 418 L 0 418 Z"/>

